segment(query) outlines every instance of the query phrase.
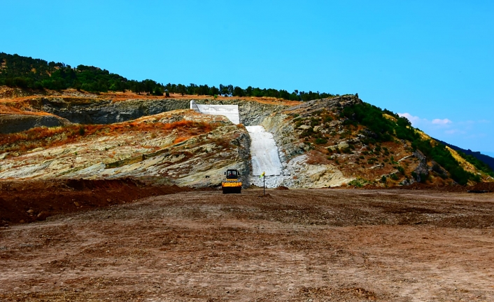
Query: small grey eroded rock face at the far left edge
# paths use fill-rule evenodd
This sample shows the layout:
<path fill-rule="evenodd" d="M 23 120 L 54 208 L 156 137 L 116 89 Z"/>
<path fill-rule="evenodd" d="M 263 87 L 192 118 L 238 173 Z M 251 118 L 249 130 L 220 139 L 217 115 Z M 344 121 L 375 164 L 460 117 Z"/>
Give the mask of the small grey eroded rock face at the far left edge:
<path fill-rule="evenodd" d="M 27 114 L 0 114 L 0 133 L 22 132 L 36 127 L 58 127 L 70 122 L 58 116 L 35 116 Z"/>

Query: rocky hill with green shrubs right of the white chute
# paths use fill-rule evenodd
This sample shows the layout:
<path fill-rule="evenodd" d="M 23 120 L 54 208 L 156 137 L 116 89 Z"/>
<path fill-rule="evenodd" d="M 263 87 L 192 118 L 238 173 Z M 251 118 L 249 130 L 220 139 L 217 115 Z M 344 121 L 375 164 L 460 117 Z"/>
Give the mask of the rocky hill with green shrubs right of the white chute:
<path fill-rule="evenodd" d="M 407 119 L 355 96 L 281 109 L 262 125 L 281 147 L 285 174 L 290 175 L 285 186 L 332 186 L 346 179 L 353 186 L 417 181 L 464 185 L 494 176 L 491 169 L 479 169 L 471 158 L 414 129 Z"/>

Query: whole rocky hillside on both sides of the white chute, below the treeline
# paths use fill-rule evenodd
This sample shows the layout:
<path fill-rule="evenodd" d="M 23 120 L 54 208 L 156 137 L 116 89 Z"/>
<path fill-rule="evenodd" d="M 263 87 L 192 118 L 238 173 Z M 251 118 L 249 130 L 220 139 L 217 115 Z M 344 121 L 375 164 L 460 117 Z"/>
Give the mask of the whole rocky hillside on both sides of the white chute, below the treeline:
<path fill-rule="evenodd" d="M 283 163 L 279 184 L 290 188 L 465 185 L 493 181 L 494 176 L 486 165 L 419 132 L 405 118 L 353 95 L 287 102 L 76 90 L 23 95 L 23 90 L 6 87 L 2 91 L 0 179 L 132 177 L 214 187 L 223 170 L 237 167 L 248 186 L 250 139 L 244 125 L 262 125 L 274 135 Z M 191 99 L 237 104 L 241 125 L 189 110 Z M 50 116 L 59 124 L 10 127 L 20 116 Z"/>

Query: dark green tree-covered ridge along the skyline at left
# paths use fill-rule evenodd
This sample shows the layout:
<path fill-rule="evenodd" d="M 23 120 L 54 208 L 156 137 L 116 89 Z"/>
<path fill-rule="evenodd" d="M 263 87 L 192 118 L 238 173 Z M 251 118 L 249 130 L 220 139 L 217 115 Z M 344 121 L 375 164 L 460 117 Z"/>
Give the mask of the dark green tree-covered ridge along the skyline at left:
<path fill-rule="evenodd" d="M 334 97 L 326 92 L 304 92 L 294 90 L 261 89 L 248 86 L 240 88 L 233 85 L 216 86 L 157 83 L 146 79 L 143 81 L 128 80 L 118 74 L 112 74 L 99 67 L 78 65 L 71 67 L 60 62 L 47 62 L 32 57 L 21 55 L 9 55 L 0 52 L 0 85 L 33 90 L 64 90 L 74 88 L 88 92 L 108 92 L 132 90 L 136 93 L 148 95 L 169 95 L 169 93 L 181 93 L 181 95 L 229 95 L 234 97 L 276 97 L 293 101 L 310 101 Z M 167 93 L 168 92 L 168 93 Z"/>

